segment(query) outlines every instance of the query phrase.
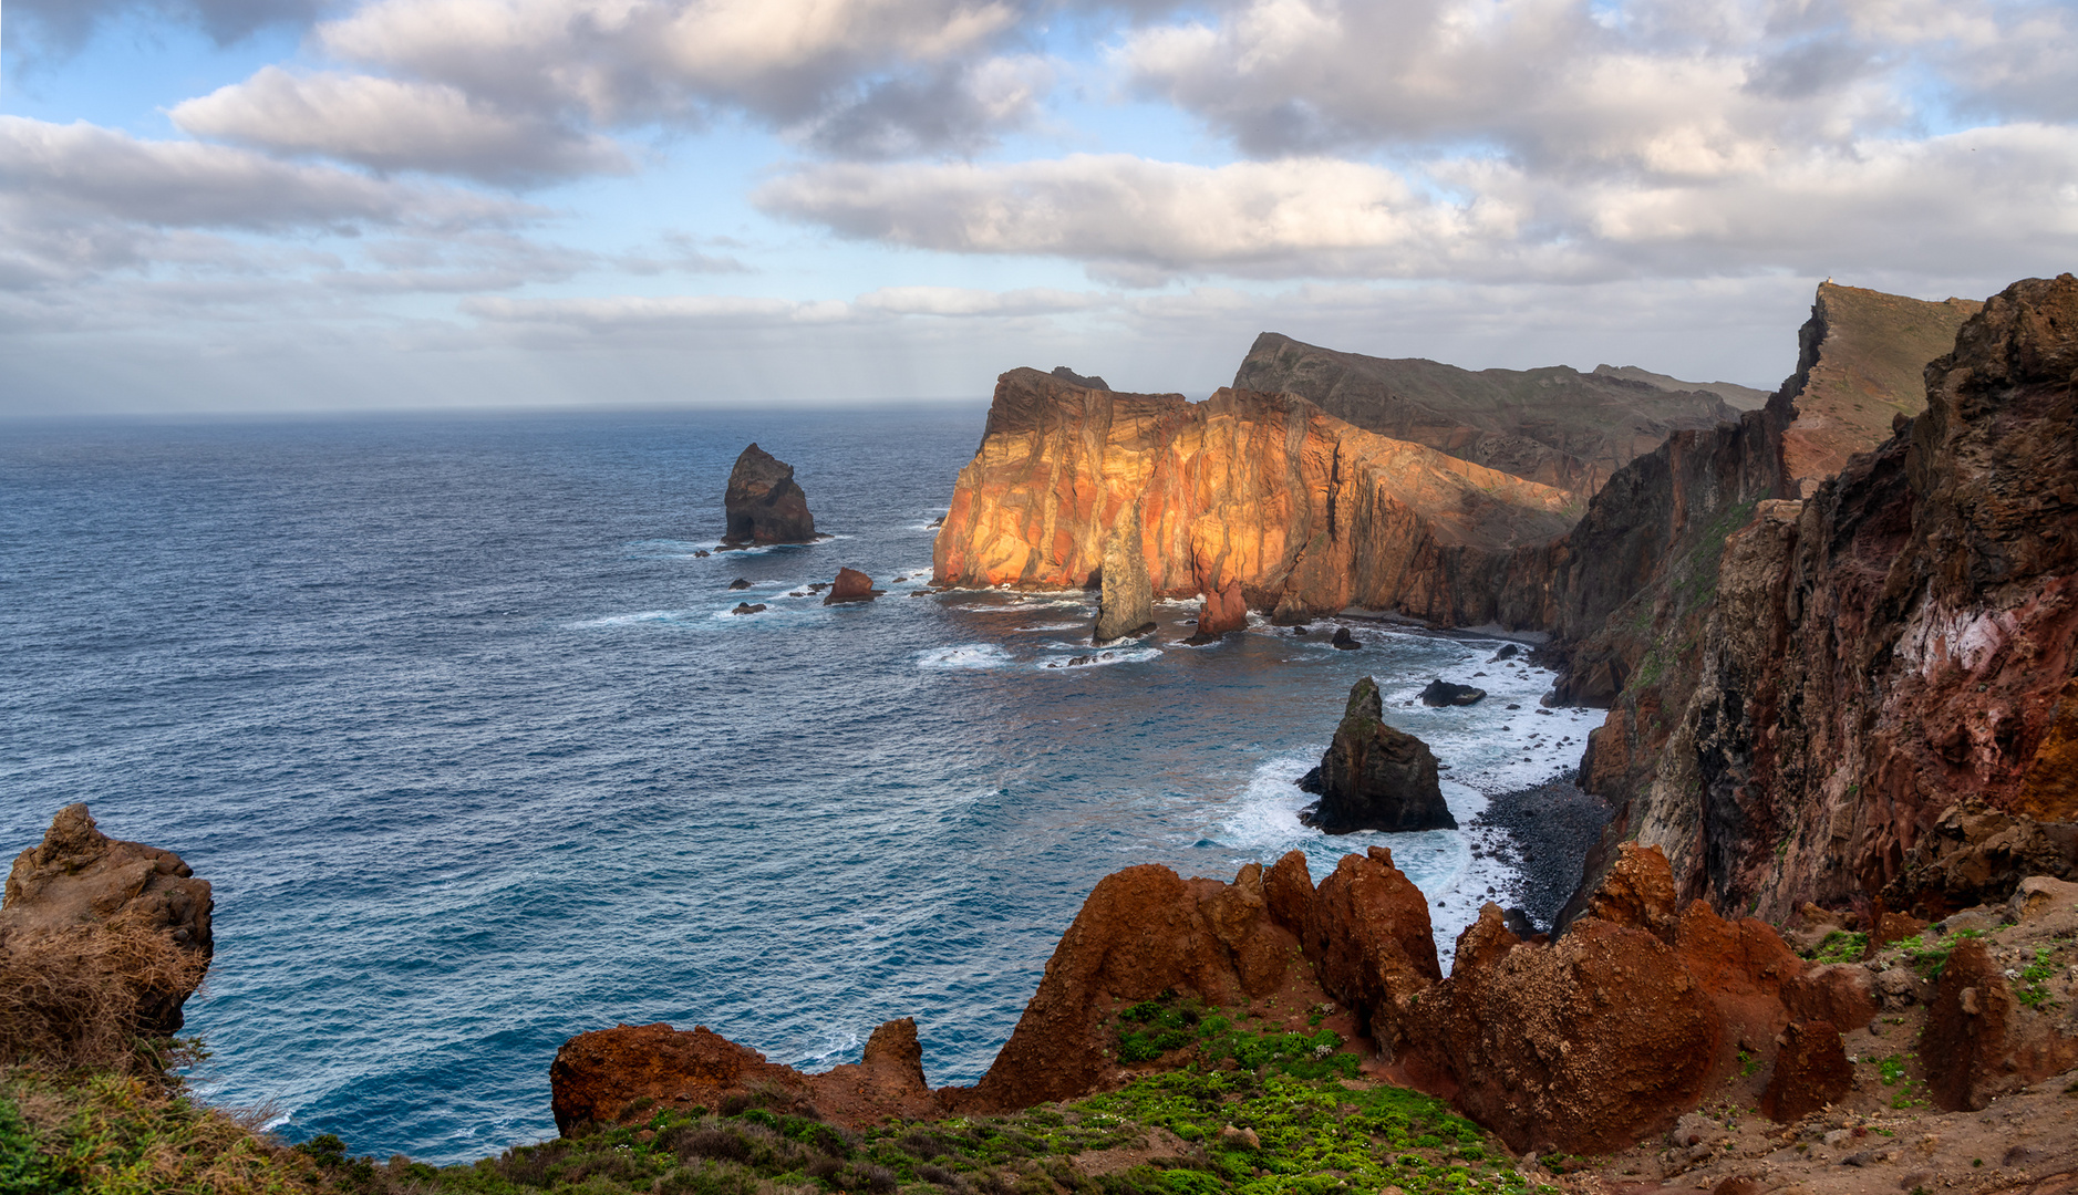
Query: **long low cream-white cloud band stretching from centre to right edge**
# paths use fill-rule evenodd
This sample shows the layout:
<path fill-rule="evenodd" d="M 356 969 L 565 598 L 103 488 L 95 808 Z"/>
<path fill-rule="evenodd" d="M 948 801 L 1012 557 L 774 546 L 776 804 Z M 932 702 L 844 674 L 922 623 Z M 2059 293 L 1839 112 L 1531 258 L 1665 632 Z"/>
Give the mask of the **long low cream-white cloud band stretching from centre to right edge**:
<path fill-rule="evenodd" d="M 1118 154 L 815 164 L 773 179 L 754 202 L 842 237 L 1060 258 L 1126 287 L 1178 274 L 1577 283 L 2028 272 L 2078 254 L 2078 131 L 1866 139 L 1667 177 L 1571 179 L 1492 158 L 1407 172 L 1334 158 L 1191 166 Z"/>

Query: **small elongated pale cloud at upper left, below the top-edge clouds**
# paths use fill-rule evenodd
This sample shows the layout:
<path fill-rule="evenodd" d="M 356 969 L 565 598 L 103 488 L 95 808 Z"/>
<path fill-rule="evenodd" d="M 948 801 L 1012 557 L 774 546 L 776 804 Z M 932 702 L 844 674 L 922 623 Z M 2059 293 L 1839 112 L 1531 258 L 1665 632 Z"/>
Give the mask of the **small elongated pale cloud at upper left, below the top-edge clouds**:
<path fill-rule="evenodd" d="M 526 183 L 632 168 L 605 137 L 534 112 L 497 110 L 447 83 L 264 67 L 243 83 L 177 104 L 170 116 L 197 137 L 270 154 L 324 154 L 374 170 Z"/>

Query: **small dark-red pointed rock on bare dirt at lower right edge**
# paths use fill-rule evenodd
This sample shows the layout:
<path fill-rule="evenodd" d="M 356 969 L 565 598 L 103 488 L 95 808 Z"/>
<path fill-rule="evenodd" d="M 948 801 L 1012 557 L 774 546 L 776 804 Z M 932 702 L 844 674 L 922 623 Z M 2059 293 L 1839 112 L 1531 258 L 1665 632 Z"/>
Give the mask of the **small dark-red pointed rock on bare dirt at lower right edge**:
<path fill-rule="evenodd" d="M 1984 1108 L 2072 1062 L 2078 1062 L 2078 1037 L 2066 1037 L 2049 1016 L 2014 1000 L 1980 939 L 1964 937 L 1949 950 L 1920 1033 L 1920 1064 L 1935 1108 Z"/>

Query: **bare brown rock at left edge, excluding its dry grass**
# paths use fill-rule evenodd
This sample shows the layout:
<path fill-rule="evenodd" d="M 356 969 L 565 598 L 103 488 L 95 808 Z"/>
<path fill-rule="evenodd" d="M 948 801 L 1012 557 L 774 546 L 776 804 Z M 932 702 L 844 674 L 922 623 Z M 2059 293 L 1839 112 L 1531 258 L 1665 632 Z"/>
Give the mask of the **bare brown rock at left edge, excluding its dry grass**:
<path fill-rule="evenodd" d="M 50 819 L 44 842 L 15 856 L 0 900 L 0 950 L 31 939 L 62 941 L 98 929 L 141 931 L 170 946 L 162 964 L 137 968 L 135 1023 L 145 1035 L 179 1033 L 181 1006 L 202 983 L 216 950 L 210 883 L 170 850 L 102 833 L 85 804 Z M 89 962 L 83 939 L 69 952 Z M 58 977 L 48 977 L 58 983 Z M 116 977 L 114 981 L 127 981 Z M 96 1031 L 100 1027 L 85 1027 Z"/>

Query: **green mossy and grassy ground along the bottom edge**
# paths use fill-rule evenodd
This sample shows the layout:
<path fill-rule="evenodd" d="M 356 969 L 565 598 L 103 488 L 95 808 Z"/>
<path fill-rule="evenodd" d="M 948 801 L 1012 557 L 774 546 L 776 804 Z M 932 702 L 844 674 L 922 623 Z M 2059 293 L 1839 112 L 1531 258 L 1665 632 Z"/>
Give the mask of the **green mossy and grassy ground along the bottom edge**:
<path fill-rule="evenodd" d="M 867 1131 L 752 1097 L 445 1168 L 355 1158 L 337 1137 L 287 1149 L 177 1083 L 15 1068 L 0 1074 L 0 1195 L 1531 1195 L 1509 1153 L 1440 1101 L 1280 1070 L 1320 1062 L 1305 1054 L 1168 1070 L 1016 1116 Z"/>

